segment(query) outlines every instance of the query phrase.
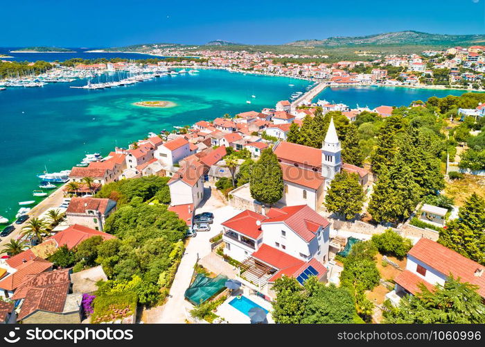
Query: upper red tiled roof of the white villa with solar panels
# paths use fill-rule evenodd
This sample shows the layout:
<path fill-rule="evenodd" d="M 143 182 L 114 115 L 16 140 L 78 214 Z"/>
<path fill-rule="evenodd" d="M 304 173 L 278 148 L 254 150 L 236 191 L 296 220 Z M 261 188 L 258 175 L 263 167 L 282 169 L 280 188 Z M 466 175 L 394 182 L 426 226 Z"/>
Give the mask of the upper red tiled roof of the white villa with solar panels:
<path fill-rule="evenodd" d="M 316 232 L 320 226 L 326 228 L 330 224 L 308 205 L 272 208 L 267 212 L 267 217 L 269 218 L 262 223 L 283 221 L 306 242 L 310 242 L 317 236 Z"/>

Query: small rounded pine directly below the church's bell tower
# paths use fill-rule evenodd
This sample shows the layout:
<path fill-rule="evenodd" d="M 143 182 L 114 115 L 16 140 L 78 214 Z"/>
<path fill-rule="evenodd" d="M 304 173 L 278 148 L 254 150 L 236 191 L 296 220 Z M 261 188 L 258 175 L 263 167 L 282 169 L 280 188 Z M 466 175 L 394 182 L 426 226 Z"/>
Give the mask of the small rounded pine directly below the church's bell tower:
<path fill-rule="evenodd" d="M 336 174 L 325 196 L 326 208 L 341 214 L 345 219 L 352 219 L 355 214 L 362 211 L 363 204 L 364 189 L 359 183 L 358 176 L 345 171 Z"/>

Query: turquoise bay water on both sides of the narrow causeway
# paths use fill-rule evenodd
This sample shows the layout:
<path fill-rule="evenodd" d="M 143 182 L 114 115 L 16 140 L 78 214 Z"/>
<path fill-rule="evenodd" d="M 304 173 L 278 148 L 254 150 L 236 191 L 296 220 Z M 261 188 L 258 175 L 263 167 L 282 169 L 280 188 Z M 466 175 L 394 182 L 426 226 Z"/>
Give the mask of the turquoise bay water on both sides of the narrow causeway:
<path fill-rule="evenodd" d="M 127 87 L 78 90 L 53 83 L 39 88 L 8 88 L 0 92 L 3 160 L 0 170 L 0 215 L 13 219 L 19 201 L 33 200 L 39 184 L 35 174 L 70 169 L 85 153 L 106 155 L 114 146 L 142 139 L 148 132 L 211 120 L 225 113 L 274 107 L 308 81 L 294 78 L 201 70 L 196 75 L 157 78 Z M 290 84 L 294 85 L 293 87 Z M 324 90 L 318 98 L 359 105 L 408 105 L 432 95 L 461 91 L 407 90 L 369 87 Z M 256 95 L 252 99 L 251 95 Z M 247 100 L 252 100 L 248 105 Z M 175 108 L 143 108 L 141 100 L 166 100 Z"/>

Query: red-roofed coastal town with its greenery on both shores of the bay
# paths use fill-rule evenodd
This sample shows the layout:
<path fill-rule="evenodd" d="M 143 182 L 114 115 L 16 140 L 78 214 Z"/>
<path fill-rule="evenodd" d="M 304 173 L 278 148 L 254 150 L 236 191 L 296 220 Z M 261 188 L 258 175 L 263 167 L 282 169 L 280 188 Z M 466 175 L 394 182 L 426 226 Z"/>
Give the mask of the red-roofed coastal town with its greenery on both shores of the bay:
<path fill-rule="evenodd" d="M 313 82 L 39 175 L 34 196 L 56 190 L 0 232 L 0 322 L 484 323 L 485 94 L 313 101 L 328 86 L 482 90 L 484 50 L 333 64 L 170 50 L 152 53 L 181 56 L 0 70 L 8 88 L 198 69 Z M 468 306 L 450 299 L 436 318 L 457 294 Z"/>

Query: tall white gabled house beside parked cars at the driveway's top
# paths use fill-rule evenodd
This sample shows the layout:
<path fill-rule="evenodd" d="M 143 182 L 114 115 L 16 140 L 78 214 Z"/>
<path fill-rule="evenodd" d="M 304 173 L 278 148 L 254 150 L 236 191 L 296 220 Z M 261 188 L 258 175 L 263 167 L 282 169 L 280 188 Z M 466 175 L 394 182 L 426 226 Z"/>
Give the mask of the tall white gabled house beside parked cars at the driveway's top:
<path fill-rule="evenodd" d="M 199 161 L 185 162 L 168 181 L 170 205 L 193 204 L 197 208 L 204 198 L 206 166 Z"/>

